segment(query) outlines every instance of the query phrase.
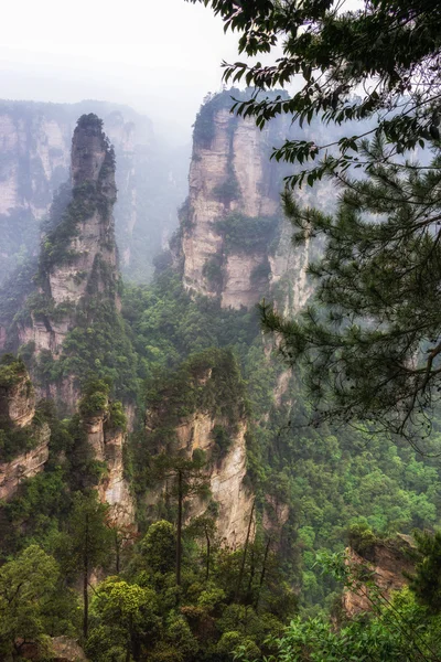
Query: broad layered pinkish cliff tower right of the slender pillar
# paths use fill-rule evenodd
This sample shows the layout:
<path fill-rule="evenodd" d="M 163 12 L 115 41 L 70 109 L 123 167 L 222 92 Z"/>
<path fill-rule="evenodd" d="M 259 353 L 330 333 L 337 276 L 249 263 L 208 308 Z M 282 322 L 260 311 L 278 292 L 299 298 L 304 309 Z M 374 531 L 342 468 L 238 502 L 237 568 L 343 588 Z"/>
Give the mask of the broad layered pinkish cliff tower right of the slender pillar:
<path fill-rule="evenodd" d="M 286 168 L 270 161 L 290 127 L 286 118 L 263 130 L 229 111 L 230 93 L 208 99 L 196 119 L 190 196 L 181 211 L 186 289 L 219 297 L 223 308 L 250 308 L 289 274 L 291 309 L 310 296 L 309 246 L 292 249 L 282 220 Z"/>

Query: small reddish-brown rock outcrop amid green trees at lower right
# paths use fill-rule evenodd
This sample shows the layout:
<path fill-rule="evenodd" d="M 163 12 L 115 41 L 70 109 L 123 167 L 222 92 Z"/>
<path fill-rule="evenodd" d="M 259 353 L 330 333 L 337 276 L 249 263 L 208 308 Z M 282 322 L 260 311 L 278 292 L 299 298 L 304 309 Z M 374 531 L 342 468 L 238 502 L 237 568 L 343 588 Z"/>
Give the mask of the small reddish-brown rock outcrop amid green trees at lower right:
<path fill-rule="evenodd" d="M 415 570 L 413 548 L 410 536 L 399 535 L 397 540 L 378 541 L 359 552 L 352 547 L 346 549 L 346 564 L 354 578 L 354 589 L 345 590 L 342 598 L 343 611 L 348 618 L 373 608 L 372 588 L 363 579 L 366 575 L 385 598 L 407 585 L 406 575 Z"/>

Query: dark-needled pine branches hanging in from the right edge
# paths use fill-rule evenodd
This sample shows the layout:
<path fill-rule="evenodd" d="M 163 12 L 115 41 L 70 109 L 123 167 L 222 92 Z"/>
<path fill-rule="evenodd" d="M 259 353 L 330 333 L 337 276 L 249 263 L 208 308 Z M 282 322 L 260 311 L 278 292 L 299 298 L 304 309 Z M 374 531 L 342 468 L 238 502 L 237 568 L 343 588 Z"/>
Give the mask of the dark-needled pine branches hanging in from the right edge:
<path fill-rule="evenodd" d="M 335 215 L 284 196 L 294 241 L 325 239 L 309 268 L 315 300 L 291 321 L 261 309 L 288 362 L 306 369 L 315 423 L 356 419 L 411 437 L 430 428 L 441 392 L 441 156 L 419 168 L 389 163 L 387 149 L 363 145 L 368 177 L 340 177 Z"/>

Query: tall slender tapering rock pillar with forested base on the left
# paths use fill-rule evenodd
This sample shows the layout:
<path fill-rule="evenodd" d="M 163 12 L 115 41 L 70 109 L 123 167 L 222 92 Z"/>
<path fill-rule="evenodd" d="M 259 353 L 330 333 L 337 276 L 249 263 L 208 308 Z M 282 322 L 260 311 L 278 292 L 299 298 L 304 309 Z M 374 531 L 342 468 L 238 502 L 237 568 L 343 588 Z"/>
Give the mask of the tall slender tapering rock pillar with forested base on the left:
<path fill-rule="evenodd" d="M 115 202 L 114 149 L 103 121 L 84 115 L 72 141 L 71 182 L 54 200 L 46 224 L 35 291 L 15 302 L 19 313 L 12 310 L 7 334 L 8 346 L 26 360 L 39 395 L 67 413 L 75 410 L 79 385 L 89 376 L 118 378 L 125 399 L 135 378 L 119 314 Z"/>

